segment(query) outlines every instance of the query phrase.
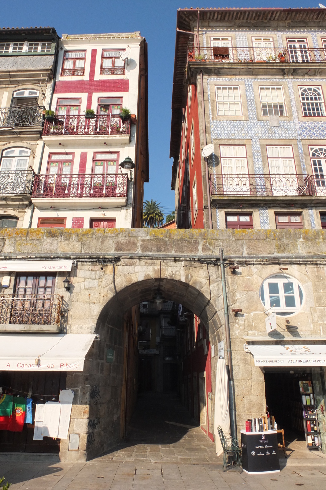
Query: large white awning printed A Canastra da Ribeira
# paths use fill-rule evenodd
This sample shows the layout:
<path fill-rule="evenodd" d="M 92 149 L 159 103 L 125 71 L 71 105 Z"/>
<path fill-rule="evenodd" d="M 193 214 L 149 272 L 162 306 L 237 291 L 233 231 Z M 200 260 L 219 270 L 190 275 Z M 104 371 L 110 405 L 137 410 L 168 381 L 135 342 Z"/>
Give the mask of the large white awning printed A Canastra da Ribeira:
<path fill-rule="evenodd" d="M 0 371 L 82 371 L 95 335 L 0 335 Z"/>

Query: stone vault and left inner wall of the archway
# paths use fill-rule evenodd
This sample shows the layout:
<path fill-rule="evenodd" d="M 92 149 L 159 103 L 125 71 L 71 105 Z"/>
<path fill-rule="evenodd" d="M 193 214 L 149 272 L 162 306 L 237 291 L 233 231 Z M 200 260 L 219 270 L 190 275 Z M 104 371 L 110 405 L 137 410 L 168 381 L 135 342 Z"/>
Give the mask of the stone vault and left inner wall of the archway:
<path fill-rule="evenodd" d="M 125 314 L 131 307 L 152 300 L 160 289 L 164 299 L 180 303 L 198 316 L 206 326 L 210 339 L 214 337 L 219 341 L 222 338 L 219 332 L 221 322 L 217 314 L 219 298 L 212 294 L 210 287 L 203 285 L 203 281 L 196 281 L 201 286 L 200 291 L 185 280 L 166 277 L 136 280 L 123 286 L 125 277 L 119 275 L 118 267 L 115 284 L 110 288 L 113 287 L 114 295 L 102 308 L 96 323 L 95 333 L 99 335 L 99 341 L 94 343 L 85 361 L 85 394 L 89 390 L 89 419 L 84 441 L 87 459 L 114 447 L 121 437 L 121 398 L 126 372 Z M 192 274 L 188 273 L 184 279 L 191 280 Z M 114 351 L 113 363 L 107 362 L 107 349 Z M 99 430 L 93 430 L 96 425 Z"/>

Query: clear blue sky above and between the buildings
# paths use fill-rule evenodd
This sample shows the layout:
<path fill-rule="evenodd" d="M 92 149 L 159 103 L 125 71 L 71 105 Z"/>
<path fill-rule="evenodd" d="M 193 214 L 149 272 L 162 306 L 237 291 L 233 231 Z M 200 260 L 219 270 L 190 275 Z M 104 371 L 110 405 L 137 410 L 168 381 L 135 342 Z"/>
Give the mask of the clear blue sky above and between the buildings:
<path fill-rule="evenodd" d="M 174 210 L 169 159 L 171 94 L 178 8 L 200 7 L 318 7 L 316 2 L 250 1 L 184 4 L 174 0 L 15 0 L 2 2 L 1 27 L 55 27 L 62 33 L 134 32 L 140 30 L 148 43 L 148 113 L 150 181 L 145 199 L 161 202 L 165 214 Z"/>

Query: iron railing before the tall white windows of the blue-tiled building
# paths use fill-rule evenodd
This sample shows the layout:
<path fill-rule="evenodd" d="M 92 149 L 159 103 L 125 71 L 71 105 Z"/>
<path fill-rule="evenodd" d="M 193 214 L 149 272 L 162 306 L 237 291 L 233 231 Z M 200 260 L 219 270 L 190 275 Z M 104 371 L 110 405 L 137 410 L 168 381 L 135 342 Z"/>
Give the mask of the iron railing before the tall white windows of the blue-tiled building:
<path fill-rule="evenodd" d="M 326 196 L 326 177 L 296 174 L 210 174 L 211 196 Z"/>

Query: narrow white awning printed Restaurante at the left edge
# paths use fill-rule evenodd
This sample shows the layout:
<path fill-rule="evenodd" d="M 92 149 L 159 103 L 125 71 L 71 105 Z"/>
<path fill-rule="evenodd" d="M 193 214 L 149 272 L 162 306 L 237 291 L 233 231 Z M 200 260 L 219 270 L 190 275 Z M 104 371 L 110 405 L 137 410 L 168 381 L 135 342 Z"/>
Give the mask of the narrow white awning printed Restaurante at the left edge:
<path fill-rule="evenodd" d="M 0 260 L 0 270 L 8 272 L 52 272 L 71 270 L 72 260 Z"/>

